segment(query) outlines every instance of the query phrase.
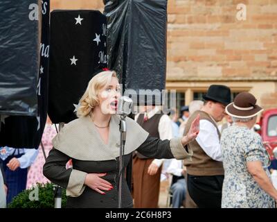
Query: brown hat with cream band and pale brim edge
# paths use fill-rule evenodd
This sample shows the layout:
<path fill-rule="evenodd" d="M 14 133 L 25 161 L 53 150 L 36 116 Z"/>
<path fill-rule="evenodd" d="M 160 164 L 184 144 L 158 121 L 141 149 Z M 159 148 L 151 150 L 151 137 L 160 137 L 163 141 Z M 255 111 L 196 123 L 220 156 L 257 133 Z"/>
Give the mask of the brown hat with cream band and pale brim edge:
<path fill-rule="evenodd" d="M 234 102 L 226 106 L 226 113 L 231 117 L 250 118 L 255 117 L 262 108 L 256 105 L 257 99 L 249 92 L 240 92 L 235 96 Z"/>

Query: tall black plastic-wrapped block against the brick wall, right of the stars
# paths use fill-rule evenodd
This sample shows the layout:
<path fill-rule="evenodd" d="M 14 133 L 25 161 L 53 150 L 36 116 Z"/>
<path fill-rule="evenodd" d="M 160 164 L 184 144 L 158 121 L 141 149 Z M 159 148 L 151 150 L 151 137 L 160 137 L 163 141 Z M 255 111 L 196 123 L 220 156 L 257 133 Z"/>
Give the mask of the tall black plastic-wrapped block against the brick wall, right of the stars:
<path fill-rule="evenodd" d="M 108 67 L 116 70 L 124 91 L 132 89 L 128 92 L 132 99 L 138 96 L 139 103 L 150 96 L 148 105 L 159 105 L 161 100 L 152 96 L 161 97 L 166 87 L 167 0 L 104 2 Z"/>

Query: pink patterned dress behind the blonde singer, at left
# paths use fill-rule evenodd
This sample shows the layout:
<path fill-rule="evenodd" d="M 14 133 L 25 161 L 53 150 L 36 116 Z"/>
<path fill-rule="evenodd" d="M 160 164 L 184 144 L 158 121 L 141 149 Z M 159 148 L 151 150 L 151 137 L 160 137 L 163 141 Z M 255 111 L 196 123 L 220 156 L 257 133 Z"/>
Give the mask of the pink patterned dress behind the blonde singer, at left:
<path fill-rule="evenodd" d="M 46 157 L 48 156 L 49 151 L 51 151 L 52 146 L 52 139 L 56 135 L 56 130 L 54 125 L 46 124 L 44 128 L 44 133 L 42 135 L 42 143 L 44 145 L 44 150 Z M 42 152 L 42 146 L 39 145 L 39 154 L 35 159 L 35 162 L 30 166 L 27 176 L 27 185 L 26 188 L 30 189 L 37 182 L 39 183 L 46 183 L 50 182 L 47 178 L 43 175 L 42 169 L 45 163 L 44 154 Z"/>

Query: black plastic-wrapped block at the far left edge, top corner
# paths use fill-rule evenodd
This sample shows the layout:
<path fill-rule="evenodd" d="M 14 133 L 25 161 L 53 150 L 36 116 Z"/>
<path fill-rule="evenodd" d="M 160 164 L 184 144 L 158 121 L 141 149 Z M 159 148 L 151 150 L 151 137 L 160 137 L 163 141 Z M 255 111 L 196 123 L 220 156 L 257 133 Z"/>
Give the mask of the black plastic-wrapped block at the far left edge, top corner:
<path fill-rule="evenodd" d="M 40 2 L 1 1 L 0 114 L 37 116 Z"/>

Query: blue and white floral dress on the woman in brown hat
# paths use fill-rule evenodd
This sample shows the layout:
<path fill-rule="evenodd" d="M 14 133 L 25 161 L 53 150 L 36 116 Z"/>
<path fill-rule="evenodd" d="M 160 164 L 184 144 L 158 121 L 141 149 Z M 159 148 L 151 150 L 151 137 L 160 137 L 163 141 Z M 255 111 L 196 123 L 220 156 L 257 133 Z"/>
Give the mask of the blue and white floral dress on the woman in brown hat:
<path fill-rule="evenodd" d="M 247 162 L 260 161 L 270 178 L 269 155 L 260 135 L 244 126 L 230 126 L 222 133 L 221 148 L 225 171 L 222 208 L 275 207 L 274 198 L 260 188 L 247 170 Z"/>

